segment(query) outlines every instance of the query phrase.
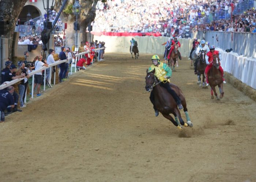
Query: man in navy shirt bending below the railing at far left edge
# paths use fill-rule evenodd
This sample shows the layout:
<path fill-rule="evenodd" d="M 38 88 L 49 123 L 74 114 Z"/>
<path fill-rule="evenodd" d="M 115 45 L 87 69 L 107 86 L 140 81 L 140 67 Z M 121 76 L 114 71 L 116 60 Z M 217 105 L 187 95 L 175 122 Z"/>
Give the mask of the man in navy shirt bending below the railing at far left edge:
<path fill-rule="evenodd" d="M 4 111 L 8 106 L 14 108 L 14 87 L 9 86 L 6 89 L 0 90 L 0 123 L 5 121 Z"/>

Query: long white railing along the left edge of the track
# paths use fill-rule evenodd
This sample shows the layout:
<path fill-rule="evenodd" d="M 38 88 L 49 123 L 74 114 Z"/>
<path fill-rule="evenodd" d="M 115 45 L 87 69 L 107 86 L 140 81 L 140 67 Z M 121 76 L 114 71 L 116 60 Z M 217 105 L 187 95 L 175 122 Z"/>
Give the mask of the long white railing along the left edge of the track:
<path fill-rule="evenodd" d="M 98 51 L 98 53 L 99 53 L 99 51 L 102 50 L 102 49 L 104 49 L 104 48 L 97 48 L 97 49 L 94 49 L 94 50 L 95 50 L 95 52 Z M 49 84 L 51 84 L 51 81 L 50 81 L 50 80 L 51 80 L 51 78 L 52 78 L 52 67 L 53 67 L 53 66 L 56 66 L 56 65 L 61 64 L 61 63 L 68 62 L 70 59 L 72 59 L 72 63 L 71 63 L 71 73 L 70 73 L 70 74 L 72 75 L 72 64 L 73 64 L 73 60 L 74 60 L 74 63 L 75 63 L 75 72 L 76 72 L 76 63 L 78 62 L 78 60 L 79 60 L 80 58 L 82 58 L 82 55 L 83 55 L 83 54 L 88 54 L 88 53 L 90 53 L 90 52 L 91 52 L 91 51 L 81 52 L 81 53 L 75 55 L 75 59 L 69 58 L 69 59 L 65 59 L 65 60 L 61 60 L 61 61 L 56 61 L 56 62 L 53 63 L 53 64 L 49 64 L 48 67 L 43 66 L 43 67 L 40 68 L 39 70 L 30 72 L 30 73 L 29 73 L 29 76 L 30 76 L 30 77 L 32 76 L 32 93 L 31 93 L 31 98 L 33 99 L 33 97 L 34 97 L 34 75 L 35 75 L 36 73 L 39 73 L 39 72 L 41 72 L 41 71 L 43 71 L 43 70 L 46 70 L 47 68 L 50 68 L 50 71 L 49 71 L 49 74 L 50 74 L 50 75 L 49 75 Z M 99 55 L 100 55 L 100 54 L 99 54 Z M 99 61 L 99 56 L 98 56 L 98 61 Z M 55 78 L 56 78 L 56 72 L 54 72 L 54 82 L 53 82 L 54 85 L 55 85 Z M 3 84 L 0 85 L 0 90 L 6 88 L 6 87 L 8 87 L 8 86 L 11 86 L 11 85 L 13 85 L 13 84 L 15 84 L 15 83 L 18 83 L 18 82 L 20 82 L 20 81 L 23 80 L 23 79 L 24 79 L 24 78 L 17 78 L 17 79 L 15 79 L 15 80 L 10 81 L 10 82 L 4 82 Z M 46 71 L 44 71 L 44 91 L 45 91 L 45 84 L 46 84 Z M 25 96 L 25 97 L 26 97 L 26 96 Z M 26 99 L 25 99 L 25 103 L 26 103 Z"/>

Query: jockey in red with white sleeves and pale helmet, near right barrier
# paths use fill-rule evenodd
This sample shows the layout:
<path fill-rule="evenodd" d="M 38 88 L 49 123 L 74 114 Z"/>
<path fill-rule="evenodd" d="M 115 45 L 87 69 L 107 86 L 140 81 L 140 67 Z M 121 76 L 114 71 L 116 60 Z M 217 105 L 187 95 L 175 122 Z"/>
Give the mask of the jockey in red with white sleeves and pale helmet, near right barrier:
<path fill-rule="evenodd" d="M 205 71 L 204 71 L 204 75 L 206 77 L 206 86 L 209 85 L 208 83 L 208 72 L 210 71 L 211 67 L 213 66 L 213 55 L 218 55 L 219 56 L 219 60 L 221 61 L 222 57 L 221 57 L 221 53 L 219 51 L 215 51 L 215 46 L 214 45 L 211 45 L 210 46 L 210 51 L 207 52 L 206 54 L 206 68 L 205 68 Z M 221 71 L 221 75 L 222 75 L 222 80 L 223 80 L 223 83 L 226 83 L 225 82 L 225 79 L 223 78 L 223 69 L 221 67 L 221 62 L 219 62 L 219 71 Z"/>

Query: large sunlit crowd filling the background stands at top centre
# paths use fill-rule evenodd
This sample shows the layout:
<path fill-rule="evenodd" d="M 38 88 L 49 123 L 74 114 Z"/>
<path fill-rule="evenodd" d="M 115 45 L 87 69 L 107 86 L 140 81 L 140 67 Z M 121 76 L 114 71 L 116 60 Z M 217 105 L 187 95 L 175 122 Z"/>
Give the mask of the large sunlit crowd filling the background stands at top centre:
<path fill-rule="evenodd" d="M 189 37 L 192 23 L 242 0 L 115 0 L 98 2 L 95 31 L 160 32 Z"/>

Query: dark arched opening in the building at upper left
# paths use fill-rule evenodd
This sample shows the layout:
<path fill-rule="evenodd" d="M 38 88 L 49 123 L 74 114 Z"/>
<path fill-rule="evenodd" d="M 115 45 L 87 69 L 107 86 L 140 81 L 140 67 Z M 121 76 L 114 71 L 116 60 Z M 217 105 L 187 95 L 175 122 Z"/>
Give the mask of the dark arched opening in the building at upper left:
<path fill-rule="evenodd" d="M 19 14 L 18 24 L 23 25 L 26 21 L 29 21 L 31 18 L 34 19 L 38 16 L 42 16 L 42 14 L 37 9 L 37 7 L 33 5 L 26 5 L 23 7 L 22 11 Z"/>

